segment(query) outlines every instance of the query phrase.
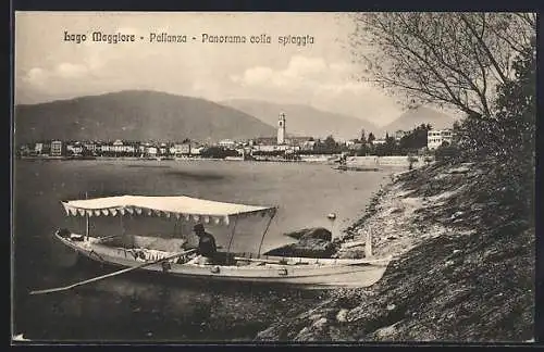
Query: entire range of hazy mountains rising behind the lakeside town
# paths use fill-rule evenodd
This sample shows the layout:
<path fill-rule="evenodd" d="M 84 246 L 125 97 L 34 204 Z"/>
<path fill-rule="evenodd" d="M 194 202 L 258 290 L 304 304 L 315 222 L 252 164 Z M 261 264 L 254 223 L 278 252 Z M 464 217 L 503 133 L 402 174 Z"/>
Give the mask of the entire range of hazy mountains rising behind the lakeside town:
<path fill-rule="evenodd" d="M 361 129 L 376 137 L 410 130 L 422 123 L 450 127 L 455 120 L 429 108 L 411 109 L 380 128 L 371 122 L 302 104 L 259 100 L 212 102 L 149 90 L 125 90 L 100 96 L 15 106 L 15 142 L 37 140 L 172 140 L 199 141 L 273 137 L 281 112 L 287 136 L 354 139 Z"/>

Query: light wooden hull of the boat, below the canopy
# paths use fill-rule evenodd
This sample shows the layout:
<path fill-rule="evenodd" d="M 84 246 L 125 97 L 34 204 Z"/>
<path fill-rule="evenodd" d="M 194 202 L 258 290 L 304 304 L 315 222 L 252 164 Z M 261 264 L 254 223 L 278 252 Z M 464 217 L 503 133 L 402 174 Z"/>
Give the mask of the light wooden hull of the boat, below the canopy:
<path fill-rule="evenodd" d="M 94 239 L 72 240 L 54 235 L 62 243 L 84 256 L 120 267 L 134 267 L 144 263 L 124 248 L 112 248 L 94 241 Z M 172 254 L 172 253 L 165 253 Z M 160 254 L 158 254 L 160 255 Z M 162 257 L 162 256 L 161 256 Z M 160 257 L 153 257 L 157 260 Z M 160 273 L 178 278 L 200 278 L 218 281 L 238 281 L 254 284 L 282 284 L 306 288 L 334 287 L 369 287 L 375 284 L 384 274 L 388 260 L 349 261 L 349 260 L 316 260 L 316 259 L 282 259 L 289 264 L 277 264 L 280 257 L 247 260 L 246 265 L 201 265 L 177 264 L 173 261 L 151 264 L 139 268 L 150 273 Z M 240 262 L 245 262 L 242 260 Z"/>

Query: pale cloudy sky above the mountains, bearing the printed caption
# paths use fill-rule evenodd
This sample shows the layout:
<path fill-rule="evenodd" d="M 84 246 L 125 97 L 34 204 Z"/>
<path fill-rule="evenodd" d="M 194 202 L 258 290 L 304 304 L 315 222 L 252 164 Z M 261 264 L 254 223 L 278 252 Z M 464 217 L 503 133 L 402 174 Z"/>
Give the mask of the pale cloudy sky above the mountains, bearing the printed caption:
<path fill-rule="evenodd" d="M 15 103 L 150 89 L 212 101 L 307 104 L 383 126 L 403 110 L 356 78 L 363 70 L 353 63 L 353 30 L 342 13 L 16 12 Z M 94 32 L 136 40 L 92 41 Z M 151 34 L 162 33 L 186 35 L 187 42 L 150 42 Z M 86 40 L 65 40 L 66 34 L 85 34 Z M 202 42 L 203 34 L 245 36 L 247 42 Z M 271 42 L 250 42 L 261 35 Z M 282 45 L 283 36 L 310 36 L 313 43 Z"/>

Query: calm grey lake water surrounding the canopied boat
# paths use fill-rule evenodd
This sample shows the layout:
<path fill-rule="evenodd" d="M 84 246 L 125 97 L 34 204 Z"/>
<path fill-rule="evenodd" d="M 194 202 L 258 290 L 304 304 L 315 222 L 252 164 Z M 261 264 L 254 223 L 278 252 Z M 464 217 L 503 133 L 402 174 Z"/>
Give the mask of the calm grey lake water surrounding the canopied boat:
<path fill-rule="evenodd" d="M 277 215 L 263 243 L 265 251 L 290 242 L 284 232 L 305 227 L 323 226 L 338 234 L 362 214 L 372 192 L 386 178 L 387 173 L 382 172 L 338 172 L 309 163 L 17 161 L 13 332 L 52 341 L 250 340 L 274 319 L 311 306 L 324 294 L 236 284 L 173 282 L 133 274 L 63 293 L 30 297 L 32 289 L 63 286 L 109 271 L 77 262 L 72 251 L 53 240 L 59 227 L 82 228 L 81 221 L 65 216 L 60 200 L 82 199 L 85 192 L 89 198 L 184 194 L 276 205 Z M 329 213 L 337 215 L 334 224 L 327 219 Z M 104 228 L 91 230 L 109 231 Z M 146 231 L 139 225 L 135 228 Z"/>

